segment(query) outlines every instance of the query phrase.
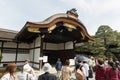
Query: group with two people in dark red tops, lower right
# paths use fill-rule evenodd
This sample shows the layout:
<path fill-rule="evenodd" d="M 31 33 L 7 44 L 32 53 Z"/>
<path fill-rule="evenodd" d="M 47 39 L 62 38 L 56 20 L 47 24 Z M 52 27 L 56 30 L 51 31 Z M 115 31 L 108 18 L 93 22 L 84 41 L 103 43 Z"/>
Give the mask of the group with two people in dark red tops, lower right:
<path fill-rule="evenodd" d="M 96 80 L 120 80 L 118 60 L 110 58 L 104 62 L 102 58 L 98 58 L 96 64 L 94 67 Z"/>

